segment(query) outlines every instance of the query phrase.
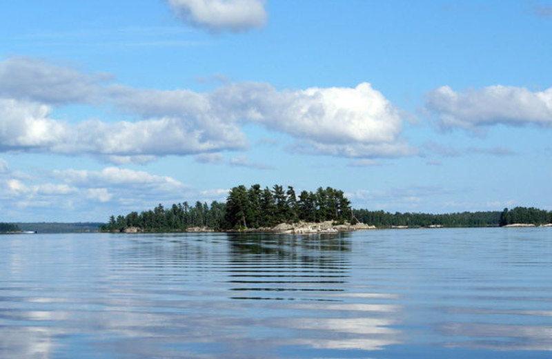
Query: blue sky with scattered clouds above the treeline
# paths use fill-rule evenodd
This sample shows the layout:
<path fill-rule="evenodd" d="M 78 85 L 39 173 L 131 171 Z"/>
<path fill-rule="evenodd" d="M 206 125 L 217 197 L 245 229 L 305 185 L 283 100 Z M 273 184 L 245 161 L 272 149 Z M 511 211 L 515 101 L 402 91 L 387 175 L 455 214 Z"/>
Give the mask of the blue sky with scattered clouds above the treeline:
<path fill-rule="evenodd" d="M 239 184 L 552 210 L 552 1 L 1 1 L 0 222 Z"/>

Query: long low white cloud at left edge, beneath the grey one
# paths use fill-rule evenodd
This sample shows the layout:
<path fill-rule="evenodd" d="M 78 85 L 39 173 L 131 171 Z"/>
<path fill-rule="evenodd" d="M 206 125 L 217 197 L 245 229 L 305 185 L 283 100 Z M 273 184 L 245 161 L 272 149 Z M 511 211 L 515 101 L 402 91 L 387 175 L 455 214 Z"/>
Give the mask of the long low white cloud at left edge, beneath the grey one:
<path fill-rule="evenodd" d="M 235 133 L 210 133 L 185 119 L 164 117 L 138 122 L 89 120 L 68 124 L 50 117 L 50 106 L 0 99 L 0 149 L 3 151 L 103 155 L 115 163 L 145 163 L 152 156 L 190 155 L 242 149 Z M 213 134 L 213 135 L 210 135 Z"/>

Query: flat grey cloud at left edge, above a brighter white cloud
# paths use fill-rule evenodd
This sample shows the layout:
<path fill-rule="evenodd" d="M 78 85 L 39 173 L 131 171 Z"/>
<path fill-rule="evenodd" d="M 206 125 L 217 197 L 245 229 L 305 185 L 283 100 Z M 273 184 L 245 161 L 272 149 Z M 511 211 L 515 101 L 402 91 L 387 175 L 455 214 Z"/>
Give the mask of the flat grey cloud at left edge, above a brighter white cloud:
<path fill-rule="evenodd" d="M 28 57 L 0 61 L 0 97 L 45 104 L 90 103 L 108 79 L 105 74 L 86 75 Z"/>

